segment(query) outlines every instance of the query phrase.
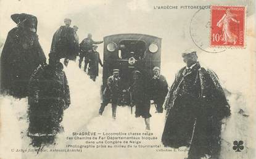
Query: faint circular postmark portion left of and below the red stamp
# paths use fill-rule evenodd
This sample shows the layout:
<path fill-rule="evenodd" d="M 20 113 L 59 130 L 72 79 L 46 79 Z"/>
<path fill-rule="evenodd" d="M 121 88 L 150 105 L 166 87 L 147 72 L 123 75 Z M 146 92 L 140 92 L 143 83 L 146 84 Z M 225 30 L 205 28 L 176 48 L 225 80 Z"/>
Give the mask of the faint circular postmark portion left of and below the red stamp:
<path fill-rule="evenodd" d="M 189 24 L 189 34 L 193 43 L 202 51 L 208 53 L 220 53 L 226 51 L 225 48 L 210 46 L 210 10 L 199 9 L 191 18 Z"/>

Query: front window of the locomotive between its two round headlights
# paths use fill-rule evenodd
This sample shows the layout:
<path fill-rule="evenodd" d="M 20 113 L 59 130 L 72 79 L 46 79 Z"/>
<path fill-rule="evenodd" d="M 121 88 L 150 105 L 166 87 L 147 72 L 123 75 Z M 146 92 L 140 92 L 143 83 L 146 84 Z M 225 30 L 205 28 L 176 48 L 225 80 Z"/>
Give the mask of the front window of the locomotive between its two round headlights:
<path fill-rule="evenodd" d="M 144 59 L 146 51 L 146 43 L 141 40 L 123 40 L 120 41 L 121 55 L 118 55 L 120 59 L 130 59 L 134 57 L 136 60 Z"/>

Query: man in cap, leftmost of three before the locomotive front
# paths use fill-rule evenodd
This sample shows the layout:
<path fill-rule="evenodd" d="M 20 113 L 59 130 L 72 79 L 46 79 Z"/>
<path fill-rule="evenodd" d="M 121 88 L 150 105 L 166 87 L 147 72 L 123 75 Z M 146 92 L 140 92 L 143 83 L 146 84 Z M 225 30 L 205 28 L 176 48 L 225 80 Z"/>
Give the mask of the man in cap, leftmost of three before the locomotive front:
<path fill-rule="evenodd" d="M 120 91 L 120 76 L 119 76 L 119 70 L 114 69 L 113 75 L 109 76 L 107 78 L 107 86 L 104 89 L 103 92 L 103 102 L 101 104 L 101 108 L 99 108 L 99 115 L 102 115 L 105 106 L 109 104 L 110 100 L 112 103 L 112 118 L 116 118 L 116 112 L 117 112 L 117 104 L 118 99 L 120 97 L 121 91 Z"/>

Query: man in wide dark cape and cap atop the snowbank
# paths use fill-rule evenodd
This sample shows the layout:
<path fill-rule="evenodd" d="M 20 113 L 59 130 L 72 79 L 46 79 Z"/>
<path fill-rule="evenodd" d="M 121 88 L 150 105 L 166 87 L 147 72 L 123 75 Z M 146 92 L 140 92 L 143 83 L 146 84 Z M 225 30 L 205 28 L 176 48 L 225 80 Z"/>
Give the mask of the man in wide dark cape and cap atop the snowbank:
<path fill-rule="evenodd" d="M 68 60 L 76 60 L 79 51 L 79 41 L 76 39 L 74 28 L 70 27 L 71 20 L 65 18 L 65 25 L 61 26 L 52 38 L 51 52 L 60 59 L 65 58 L 64 64 L 68 65 Z"/>

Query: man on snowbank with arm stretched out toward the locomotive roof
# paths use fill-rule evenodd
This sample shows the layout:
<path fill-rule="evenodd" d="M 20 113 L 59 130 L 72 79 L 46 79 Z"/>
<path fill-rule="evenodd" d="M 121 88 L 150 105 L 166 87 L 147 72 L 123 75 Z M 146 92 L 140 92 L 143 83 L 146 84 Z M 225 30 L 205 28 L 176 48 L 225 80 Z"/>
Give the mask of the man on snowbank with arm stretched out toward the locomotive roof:
<path fill-rule="evenodd" d="M 80 43 L 80 54 L 79 54 L 79 68 L 81 68 L 81 64 L 83 61 L 83 58 L 85 58 L 85 67 L 83 68 L 84 71 L 86 71 L 88 62 L 89 62 L 89 52 L 93 49 L 93 44 L 101 44 L 103 41 L 93 41 L 92 35 L 88 34 L 87 38 L 83 39 Z"/>

